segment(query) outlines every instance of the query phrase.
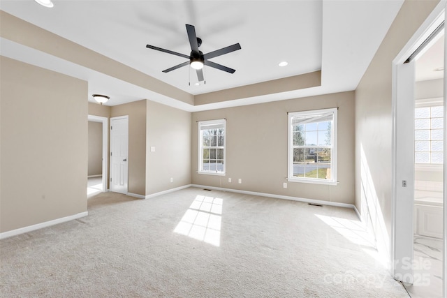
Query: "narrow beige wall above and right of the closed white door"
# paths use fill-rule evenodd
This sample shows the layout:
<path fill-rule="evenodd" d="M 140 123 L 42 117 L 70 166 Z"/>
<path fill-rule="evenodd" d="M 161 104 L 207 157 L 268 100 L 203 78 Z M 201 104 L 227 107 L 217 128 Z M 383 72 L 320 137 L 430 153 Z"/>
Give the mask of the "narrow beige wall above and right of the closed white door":
<path fill-rule="evenodd" d="M 110 108 L 110 117 L 129 116 L 129 193 L 146 191 L 146 102 L 138 100 Z"/>

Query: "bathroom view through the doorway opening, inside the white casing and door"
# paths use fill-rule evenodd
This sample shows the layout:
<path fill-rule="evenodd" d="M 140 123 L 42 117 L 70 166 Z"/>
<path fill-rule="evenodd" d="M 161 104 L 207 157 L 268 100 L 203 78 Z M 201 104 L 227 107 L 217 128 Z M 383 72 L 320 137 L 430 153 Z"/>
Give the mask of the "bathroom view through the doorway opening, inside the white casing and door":
<path fill-rule="evenodd" d="M 442 30 L 416 59 L 411 297 L 443 297 L 444 44 Z"/>

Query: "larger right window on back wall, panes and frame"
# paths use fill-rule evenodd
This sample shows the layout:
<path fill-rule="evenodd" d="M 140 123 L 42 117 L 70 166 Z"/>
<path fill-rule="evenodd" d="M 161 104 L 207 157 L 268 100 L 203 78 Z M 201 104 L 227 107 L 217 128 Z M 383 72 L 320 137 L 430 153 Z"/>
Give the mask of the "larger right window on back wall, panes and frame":
<path fill-rule="evenodd" d="M 288 181 L 337 184 L 337 108 L 288 113 Z"/>

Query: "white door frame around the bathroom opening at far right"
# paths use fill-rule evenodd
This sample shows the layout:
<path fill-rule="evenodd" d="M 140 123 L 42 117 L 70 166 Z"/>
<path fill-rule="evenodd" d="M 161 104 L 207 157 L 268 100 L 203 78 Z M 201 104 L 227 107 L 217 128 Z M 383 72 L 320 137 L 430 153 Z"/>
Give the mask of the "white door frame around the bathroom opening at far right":
<path fill-rule="evenodd" d="M 416 49 L 427 39 L 430 34 L 439 27 L 442 21 L 446 20 L 446 0 L 441 0 L 436 8 L 430 13 L 430 15 L 427 17 L 425 22 L 420 26 L 418 31 L 413 34 L 411 39 L 408 43 L 402 48 L 399 54 L 397 54 L 397 57 L 393 60 L 393 95 L 392 95 L 392 121 L 393 121 L 393 156 L 392 156 L 392 165 L 393 165 L 393 204 L 392 204 L 392 229 L 391 229 L 391 255 L 390 255 L 390 264 L 391 264 L 391 271 L 393 277 L 402 274 L 402 260 L 403 258 L 406 258 L 406 255 L 404 253 L 408 253 L 408 249 L 403 248 L 402 245 L 408 244 L 409 241 L 411 241 L 411 246 L 413 246 L 413 216 L 411 216 L 411 228 L 402 228 L 402 223 L 398 221 L 402 221 L 402 216 L 399 216 L 401 212 L 404 212 L 406 210 L 409 210 L 411 208 L 411 214 L 413 214 L 413 200 L 402 200 L 398 198 L 398 194 L 402 192 L 402 174 L 400 173 L 399 169 L 399 154 L 400 154 L 400 147 L 399 147 L 399 140 L 397 137 L 397 128 L 400 124 L 400 119 L 398 117 L 399 112 L 402 112 L 402 110 L 398 110 L 400 108 L 404 108 L 404 110 L 407 110 L 409 108 L 409 105 L 414 105 L 414 99 L 408 100 L 405 96 L 408 95 L 408 92 L 405 91 L 405 89 L 409 86 L 409 84 L 414 84 L 414 80 L 412 82 L 404 82 L 402 80 L 402 77 L 406 76 L 411 77 L 404 68 L 402 68 L 402 64 L 404 64 L 404 61 L 408 57 L 410 57 L 413 52 L 416 51 Z M 444 29 L 446 30 L 446 29 Z M 445 33 L 445 36 L 447 34 Z M 447 38 L 446 45 L 447 45 Z M 446 59 L 446 51 L 447 47 L 444 45 L 444 69 L 447 70 L 447 59 Z M 411 64 L 411 63 L 410 63 Z M 411 66 L 410 66 L 411 67 Z M 408 68 L 407 68 L 408 70 Z M 446 105 L 446 91 L 447 91 L 447 75 L 444 75 L 444 110 L 447 110 Z M 411 89 L 413 89 L 411 87 Z M 412 92 L 411 92 L 412 93 Z M 411 103 L 410 103 L 411 102 Z M 447 114 L 444 114 L 445 116 Z M 444 117 L 444 126 L 446 126 L 446 118 Z M 447 169 L 446 169 L 446 161 L 447 161 L 447 150 L 446 150 L 446 130 L 444 130 L 444 194 L 443 194 L 443 202 L 444 202 L 444 240 L 443 240 L 443 256 L 444 256 L 444 262 L 443 262 L 443 296 L 446 297 L 447 294 L 447 283 L 446 283 L 446 244 L 447 244 L 447 186 L 446 186 L 446 177 L 447 177 Z M 414 146 L 414 145 L 413 145 Z M 412 147 L 413 147 L 412 146 Z M 413 150 L 414 152 L 414 150 Z M 412 152 L 412 154 L 413 154 Z M 412 165 L 414 165 L 414 161 L 412 158 Z M 414 172 L 414 170 L 413 170 Z M 413 181 L 411 181 L 411 184 L 413 184 Z M 413 255 L 411 251 L 411 260 L 413 260 Z M 410 265 L 406 265 L 406 267 L 411 267 L 411 282 L 413 281 L 413 268 L 412 263 Z M 409 271 L 406 271 L 408 274 Z"/>

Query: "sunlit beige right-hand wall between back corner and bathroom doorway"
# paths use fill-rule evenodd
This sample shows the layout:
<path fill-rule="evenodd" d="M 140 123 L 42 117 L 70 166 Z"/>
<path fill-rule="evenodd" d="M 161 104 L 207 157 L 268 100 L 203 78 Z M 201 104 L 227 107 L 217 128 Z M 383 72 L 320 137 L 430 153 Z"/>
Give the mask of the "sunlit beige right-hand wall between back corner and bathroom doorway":
<path fill-rule="evenodd" d="M 356 207 L 390 255 L 392 61 L 438 1 L 405 1 L 356 89 Z"/>

